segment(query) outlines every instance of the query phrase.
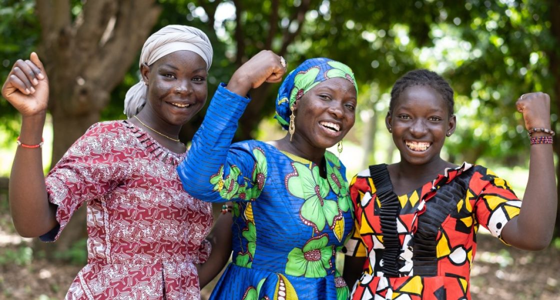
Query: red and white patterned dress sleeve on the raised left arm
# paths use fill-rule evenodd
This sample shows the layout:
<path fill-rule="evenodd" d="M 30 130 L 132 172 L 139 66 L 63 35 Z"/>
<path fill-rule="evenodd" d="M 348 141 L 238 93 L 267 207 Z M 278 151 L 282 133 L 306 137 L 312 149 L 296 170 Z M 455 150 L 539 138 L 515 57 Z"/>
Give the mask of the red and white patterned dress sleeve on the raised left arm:
<path fill-rule="evenodd" d="M 92 125 L 64 154 L 45 179 L 49 202 L 57 205 L 58 226 L 40 236 L 44 242 L 58 239 L 72 214 L 111 189 L 113 174 L 120 166 L 111 163 L 116 133 Z"/>

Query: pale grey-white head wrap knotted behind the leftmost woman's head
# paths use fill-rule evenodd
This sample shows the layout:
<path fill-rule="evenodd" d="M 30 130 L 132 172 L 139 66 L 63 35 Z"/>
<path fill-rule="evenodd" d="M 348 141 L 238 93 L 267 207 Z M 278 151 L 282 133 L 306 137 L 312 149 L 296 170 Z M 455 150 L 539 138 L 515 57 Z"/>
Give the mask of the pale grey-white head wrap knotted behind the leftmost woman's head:
<path fill-rule="evenodd" d="M 139 65 L 152 65 L 156 60 L 179 50 L 197 53 L 206 62 L 206 71 L 212 65 L 212 44 L 199 29 L 184 25 L 167 25 L 152 34 L 144 43 Z M 147 101 L 148 88 L 144 79 L 132 86 L 124 97 L 124 113 L 128 118 L 138 114 Z"/>

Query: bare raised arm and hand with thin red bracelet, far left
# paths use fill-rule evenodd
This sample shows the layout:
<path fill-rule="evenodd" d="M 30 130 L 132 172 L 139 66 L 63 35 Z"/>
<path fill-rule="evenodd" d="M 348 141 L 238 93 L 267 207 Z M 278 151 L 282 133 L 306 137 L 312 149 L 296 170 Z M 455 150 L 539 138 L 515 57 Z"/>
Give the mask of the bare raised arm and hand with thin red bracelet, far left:
<path fill-rule="evenodd" d="M 37 54 L 31 53 L 31 60 L 18 60 L 4 82 L 2 96 L 22 115 L 22 144 L 41 142 L 48 95 L 48 78 Z M 41 148 L 17 147 L 10 174 L 10 209 L 21 236 L 37 237 L 56 226 L 56 207 L 46 194 Z"/>

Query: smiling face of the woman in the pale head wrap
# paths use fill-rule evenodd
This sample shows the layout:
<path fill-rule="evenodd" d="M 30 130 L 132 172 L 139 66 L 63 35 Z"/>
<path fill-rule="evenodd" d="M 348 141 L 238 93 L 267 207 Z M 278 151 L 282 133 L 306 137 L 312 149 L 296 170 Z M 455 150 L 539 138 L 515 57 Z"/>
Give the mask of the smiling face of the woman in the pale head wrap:
<path fill-rule="evenodd" d="M 193 51 L 167 54 L 150 66 L 142 65 L 141 73 L 148 85 L 146 107 L 164 123 L 183 125 L 206 102 L 206 62 Z"/>

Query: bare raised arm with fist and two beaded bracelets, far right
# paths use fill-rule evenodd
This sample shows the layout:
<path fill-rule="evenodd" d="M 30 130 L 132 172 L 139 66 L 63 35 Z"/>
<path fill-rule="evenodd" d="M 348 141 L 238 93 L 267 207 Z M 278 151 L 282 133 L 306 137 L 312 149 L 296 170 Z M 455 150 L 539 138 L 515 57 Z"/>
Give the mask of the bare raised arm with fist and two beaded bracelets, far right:
<path fill-rule="evenodd" d="M 550 128 L 550 97 L 545 93 L 529 93 L 517 101 L 525 126 Z M 550 136 L 534 133 L 533 136 Z M 542 250 L 552 240 L 558 195 L 552 144 L 531 145 L 529 180 L 517 217 L 502 229 L 502 238 L 512 246 L 525 250 Z"/>

